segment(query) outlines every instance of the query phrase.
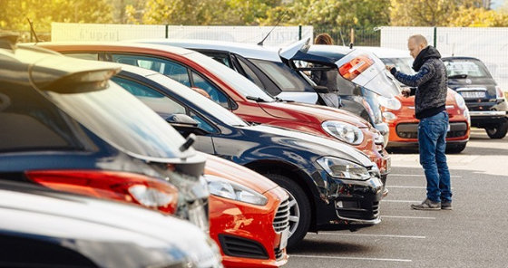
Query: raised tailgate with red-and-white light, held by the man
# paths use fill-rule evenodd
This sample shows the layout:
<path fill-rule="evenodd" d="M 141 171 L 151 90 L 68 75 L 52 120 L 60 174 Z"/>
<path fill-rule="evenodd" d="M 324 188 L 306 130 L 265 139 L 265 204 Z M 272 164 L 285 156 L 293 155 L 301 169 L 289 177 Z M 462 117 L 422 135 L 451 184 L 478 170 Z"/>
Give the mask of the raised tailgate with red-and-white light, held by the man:
<path fill-rule="evenodd" d="M 282 62 L 298 71 L 330 71 L 337 70 L 340 76 L 348 81 L 373 91 L 378 95 L 390 98 L 394 96 L 396 84 L 391 81 L 385 71 L 385 63 L 374 53 L 353 49 L 345 56 L 330 57 L 310 49 L 309 39 L 298 41 L 278 52 Z M 332 53 L 333 47 L 330 46 Z M 337 53 L 339 54 L 339 53 Z M 315 65 L 308 65 L 313 63 Z"/>

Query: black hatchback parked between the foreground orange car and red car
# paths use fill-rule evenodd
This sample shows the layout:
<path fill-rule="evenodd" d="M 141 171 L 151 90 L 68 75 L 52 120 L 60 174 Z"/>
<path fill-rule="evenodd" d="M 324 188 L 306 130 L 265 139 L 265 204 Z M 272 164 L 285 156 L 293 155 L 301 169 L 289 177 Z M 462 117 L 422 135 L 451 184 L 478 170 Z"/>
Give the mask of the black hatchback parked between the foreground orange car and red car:
<path fill-rule="evenodd" d="M 165 118 L 194 147 L 269 177 L 296 199 L 291 204 L 295 245 L 308 231 L 357 230 L 380 222 L 379 170 L 356 148 L 333 139 L 248 125 L 219 104 L 151 70 L 122 66 L 112 78 Z"/>

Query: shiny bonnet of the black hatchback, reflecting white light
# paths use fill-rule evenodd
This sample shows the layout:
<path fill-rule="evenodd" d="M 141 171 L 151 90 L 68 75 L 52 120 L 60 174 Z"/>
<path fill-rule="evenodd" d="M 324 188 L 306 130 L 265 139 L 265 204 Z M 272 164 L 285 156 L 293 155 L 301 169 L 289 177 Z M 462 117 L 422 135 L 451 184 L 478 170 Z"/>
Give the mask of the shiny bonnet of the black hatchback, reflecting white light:
<path fill-rule="evenodd" d="M 278 139 L 284 139 L 288 144 L 298 145 L 296 148 L 302 150 L 308 150 L 314 154 L 323 157 L 336 157 L 343 158 L 349 161 L 360 164 L 366 168 L 372 167 L 375 164 L 360 150 L 343 144 L 334 139 L 322 138 L 314 135 L 310 135 L 303 132 L 294 131 L 291 129 L 282 129 L 276 127 L 270 127 L 267 125 L 257 125 L 243 127 L 243 129 L 249 129 L 253 131 L 263 132 L 264 134 L 270 134 L 278 136 Z M 259 134 L 261 135 L 261 134 Z"/>

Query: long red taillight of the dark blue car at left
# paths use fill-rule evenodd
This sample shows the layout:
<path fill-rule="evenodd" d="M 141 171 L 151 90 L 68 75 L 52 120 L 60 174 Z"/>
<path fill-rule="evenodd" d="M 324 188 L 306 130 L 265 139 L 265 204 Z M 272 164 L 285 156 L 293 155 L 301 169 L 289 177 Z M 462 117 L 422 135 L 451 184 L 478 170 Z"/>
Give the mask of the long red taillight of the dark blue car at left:
<path fill-rule="evenodd" d="M 104 170 L 33 170 L 26 177 L 54 190 L 119 200 L 174 214 L 178 189 L 161 179 Z"/>

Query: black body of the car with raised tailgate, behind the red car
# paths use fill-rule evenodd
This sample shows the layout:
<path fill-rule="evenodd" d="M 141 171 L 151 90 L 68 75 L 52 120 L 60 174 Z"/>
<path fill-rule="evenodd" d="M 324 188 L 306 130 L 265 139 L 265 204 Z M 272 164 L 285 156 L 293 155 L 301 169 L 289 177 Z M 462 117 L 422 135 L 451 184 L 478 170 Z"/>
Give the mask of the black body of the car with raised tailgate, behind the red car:
<path fill-rule="evenodd" d="M 324 60 L 327 64 L 333 65 L 335 61 L 351 52 L 347 47 L 329 46 L 323 51 L 321 46 L 310 46 L 308 53 L 295 53 L 302 49 L 308 49 L 308 41 L 295 43 L 282 50 L 253 44 L 210 42 L 208 40 L 154 39 L 138 42 L 170 44 L 206 54 L 239 72 L 272 96 L 286 101 L 320 105 L 326 104 L 318 94 L 319 87 L 304 74 L 305 72 L 298 72 L 290 68 L 297 67 L 292 65 L 291 61 L 305 60 L 323 63 L 319 61 Z M 320 56 L 331 57 L 334 60 L 330 61 Z M 303 69 L 300 68 L 300 70 Z M 337 72 L 337 69 L 333 72 Z M 340 109 L 350 111 L 371 123 L 383 135 L 386 145 L 389 129 L 383 122 L 379 102 L 376 98 L 376 94 L 379 94 L 380 91 L 376 91 L 377 93 L 369 91 L 366 87 L 347 81 L 340 76 L 338 87 L 342 103 Z M 386 94 L 386 92 L 381 93 Z M 391 95 L 391 93 L 388 94 Z"/>

